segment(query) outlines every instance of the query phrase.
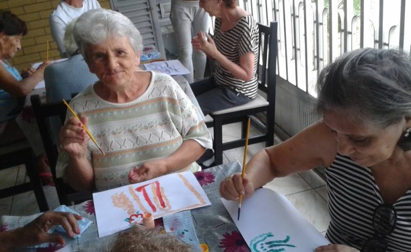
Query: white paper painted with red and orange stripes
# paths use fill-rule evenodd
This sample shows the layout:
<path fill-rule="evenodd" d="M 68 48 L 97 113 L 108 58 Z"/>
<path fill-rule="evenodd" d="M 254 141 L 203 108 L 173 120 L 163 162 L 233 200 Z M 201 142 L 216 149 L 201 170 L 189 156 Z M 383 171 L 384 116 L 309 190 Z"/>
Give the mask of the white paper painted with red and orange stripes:
<path fill-rule="evenodd" d="M 141 183 L 94 193 L 99 237 L 111 235 L 142 221 L 210 205 L 192 172 L 172 173 Z"/>

